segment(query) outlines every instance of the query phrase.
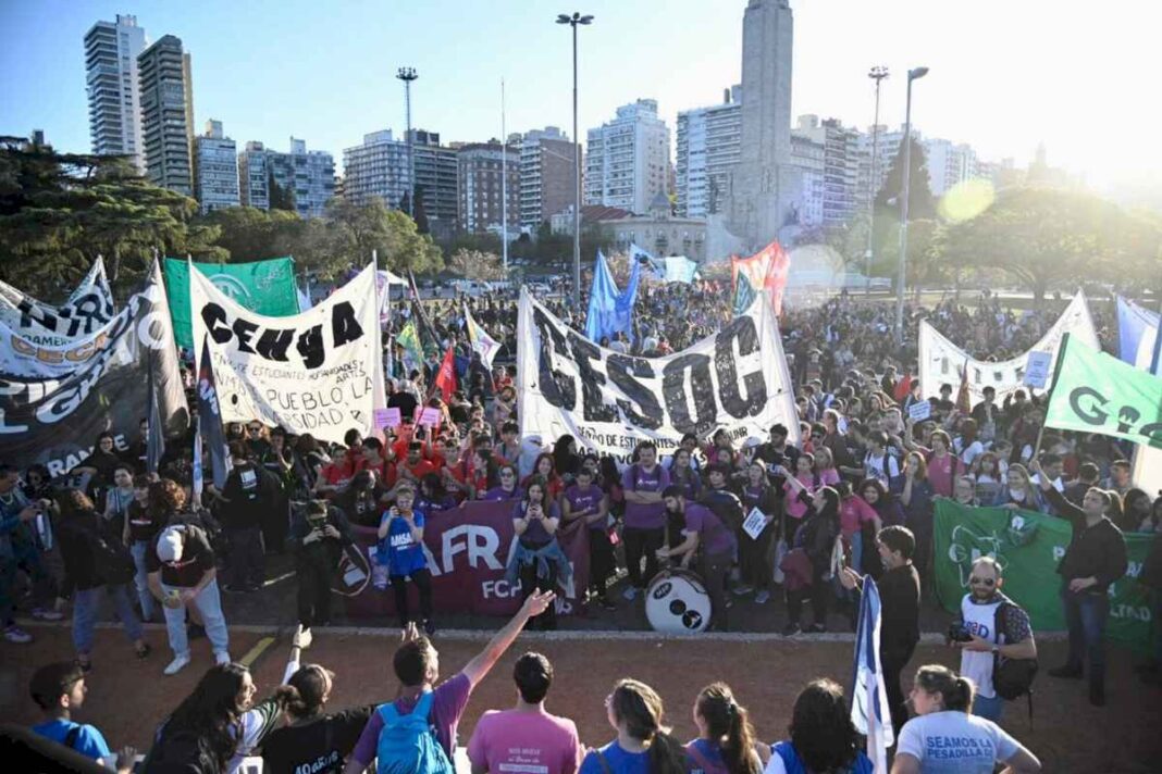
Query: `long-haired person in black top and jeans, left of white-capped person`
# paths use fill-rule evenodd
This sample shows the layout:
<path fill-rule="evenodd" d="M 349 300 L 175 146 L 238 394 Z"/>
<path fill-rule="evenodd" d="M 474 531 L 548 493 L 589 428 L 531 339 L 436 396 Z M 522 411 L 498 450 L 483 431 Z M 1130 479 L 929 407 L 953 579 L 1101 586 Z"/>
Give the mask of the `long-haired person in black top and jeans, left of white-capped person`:
<path fill-rule="evenodd" d="M 109 538 L 93 501 L 77 489 L 57 494 L 60 514 L 57 542 L 64 559 L 65 574 L 73 586 L 73 646 L 81 672 L 93 668 L 93 627 L 100 609 L 101 592 L 107 591 L 116 606 L 117 617 L 132 643 L 137 658 L 150 654 L 142 638 L 142 622 L 129 601 L 127 584 L 134 577 L 134 558 L 120 542 Z"/>

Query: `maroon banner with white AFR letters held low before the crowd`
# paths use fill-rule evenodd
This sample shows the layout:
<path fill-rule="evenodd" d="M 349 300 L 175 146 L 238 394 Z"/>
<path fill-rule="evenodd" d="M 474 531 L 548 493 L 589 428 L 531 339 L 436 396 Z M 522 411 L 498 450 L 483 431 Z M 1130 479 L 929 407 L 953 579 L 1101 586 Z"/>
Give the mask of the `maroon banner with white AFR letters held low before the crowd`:
<path fill-rule="evenodd" d="M 431 514 L 424 525 L 424 552 L 432 573 L 432 602 L 442 613 L 511 615 L 521 607 L 519 585 L 510 586 L 504 570 L 511 556 L 516 534 L 512 530 L 512 507 L 516 500 L 500 502 L 469 501 L 462 507 Z M 375 529 L 352 526 L 356 545 L 375 562 Z M 557 531 L 565 555 L 573 565 L 573 577 L 558 589 L 558 613 L 576 612 L 589 585 L 589 534 L 574 522 Z M 367 585 L 349 594 L 346 612 L 351 617 L 390 615 L 395 594 Z"/>

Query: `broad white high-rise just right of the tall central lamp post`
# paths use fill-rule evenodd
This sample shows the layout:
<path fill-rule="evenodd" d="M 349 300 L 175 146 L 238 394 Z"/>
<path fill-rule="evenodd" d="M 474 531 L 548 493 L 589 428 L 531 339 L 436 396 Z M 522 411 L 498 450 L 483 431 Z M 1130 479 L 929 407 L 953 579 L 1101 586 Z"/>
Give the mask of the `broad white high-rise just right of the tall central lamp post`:
<path fill-rule="evenodd" d="M 617 116 L 590 129 L 586 147 L 584 204 L 645 214 L 666 194 L 669 128 L 658 117 L 657 100 L 617 108 Z"/>

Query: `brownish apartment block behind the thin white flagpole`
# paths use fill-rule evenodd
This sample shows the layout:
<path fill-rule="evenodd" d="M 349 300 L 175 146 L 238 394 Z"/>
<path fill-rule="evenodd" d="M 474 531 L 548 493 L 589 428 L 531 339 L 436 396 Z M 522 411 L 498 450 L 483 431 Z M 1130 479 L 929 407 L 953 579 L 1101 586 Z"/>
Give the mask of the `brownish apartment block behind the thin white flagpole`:
<path fill-rule="evenodd" d="M 460 146 L 457 159 L 460 227 L 469 233 L 501 233 L 507 194 L 508 232 L 515 236 L 521 223 L 519 145 L 469 143 Z"/>

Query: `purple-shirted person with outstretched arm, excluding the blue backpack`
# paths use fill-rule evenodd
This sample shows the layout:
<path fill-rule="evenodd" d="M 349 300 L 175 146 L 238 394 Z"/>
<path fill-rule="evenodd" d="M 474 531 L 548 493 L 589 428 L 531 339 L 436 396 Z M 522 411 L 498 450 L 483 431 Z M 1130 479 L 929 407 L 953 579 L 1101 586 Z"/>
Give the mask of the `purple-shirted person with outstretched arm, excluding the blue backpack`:
<path fill-rule="evenodd" d="M 438 686 L 436 686 L 436 681 L 439 680 L 439 653 L 431 641 L 419 634 L 414 623 L 409 624 L 403 634 L 403 642 L 392 658 L 395 677 L 400 680 L 399 697 L 394 702 L 395 710 L 401 715 L 407 715 L 415 709 L 424 694 L 432 693 L 428 721 L 436 729 L 436 739 L 439 742 L 439 746 L 444 748 L 449 760 L 452 760 L 456 754 L 456 728 L 468 706 L 468 696 L 472 695 L 472 690 L 488 675 L 488 672 L 524 629 L 529 619 L 540 615 L 552 603 L 552 592 L 535 593 L 529 596 L 517 614 L 512 616 L 512 620 L 493 635 L 493 638 L 482 651 L 476 653 L 475 658 Z M 375 758 L 379 733 L 382 730 L 383 716 L 375 711 L 367 721 L 354 750 L 351 751 L 351 758 L 347 760 L 346 768 L 343 769 L 344 774 L 363 774 L 367 769 L 367 766 Z"/>

